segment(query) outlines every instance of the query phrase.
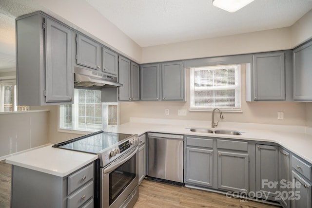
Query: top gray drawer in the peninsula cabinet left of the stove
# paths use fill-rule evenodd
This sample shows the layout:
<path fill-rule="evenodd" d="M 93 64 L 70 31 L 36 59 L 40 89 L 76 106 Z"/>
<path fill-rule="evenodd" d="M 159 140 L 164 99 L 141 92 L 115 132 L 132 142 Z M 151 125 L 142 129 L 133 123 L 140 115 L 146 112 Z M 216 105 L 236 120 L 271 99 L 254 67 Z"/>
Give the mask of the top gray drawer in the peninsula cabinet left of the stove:
<path fill-rule="evenodd" d="M 68 195 L 71 194 L 74 190 L 78 189 L 82 185 L 86 184 L 93 178 L 94 165 L 93 163 L 74 174 L 68 176 Z"/>

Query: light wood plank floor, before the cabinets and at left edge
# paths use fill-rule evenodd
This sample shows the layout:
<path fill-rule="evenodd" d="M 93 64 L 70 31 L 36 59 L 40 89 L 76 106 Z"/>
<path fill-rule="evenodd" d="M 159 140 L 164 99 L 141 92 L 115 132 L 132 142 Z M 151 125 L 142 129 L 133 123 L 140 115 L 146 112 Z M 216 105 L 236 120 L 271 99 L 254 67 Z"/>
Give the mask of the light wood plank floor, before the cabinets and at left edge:
<path fill-rule="evenodd" d="M 0 208 L 10 208 L 10 164 L 0 161 Z M 223 194 L 190 189 L 144 179 L 134 208 L 276 208 L 248 200 L 227 198 Z"/>

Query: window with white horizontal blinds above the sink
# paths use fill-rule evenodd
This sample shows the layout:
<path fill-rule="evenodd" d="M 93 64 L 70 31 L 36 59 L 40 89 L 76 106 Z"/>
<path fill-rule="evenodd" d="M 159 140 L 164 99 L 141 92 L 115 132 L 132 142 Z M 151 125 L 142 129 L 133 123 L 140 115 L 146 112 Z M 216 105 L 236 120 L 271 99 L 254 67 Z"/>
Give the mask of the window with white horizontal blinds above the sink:
<path fill-rule="evenodd" d="M 191 111 L 240 111 L 240 65 L 191 68 Z"/>

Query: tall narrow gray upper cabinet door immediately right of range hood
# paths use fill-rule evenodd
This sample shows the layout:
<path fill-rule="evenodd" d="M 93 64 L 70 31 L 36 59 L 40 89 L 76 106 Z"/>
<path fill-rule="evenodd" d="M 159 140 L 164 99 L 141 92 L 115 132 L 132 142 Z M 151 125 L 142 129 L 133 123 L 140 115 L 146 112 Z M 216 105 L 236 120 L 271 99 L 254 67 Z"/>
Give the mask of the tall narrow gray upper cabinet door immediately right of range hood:
<path fill-rule="evenodd" d="M 118 88 L 119 101 L 128 101 L 131 99 L 131 61 L 124 57 L 119 57 L 119 82 L 123 84 Z"/>

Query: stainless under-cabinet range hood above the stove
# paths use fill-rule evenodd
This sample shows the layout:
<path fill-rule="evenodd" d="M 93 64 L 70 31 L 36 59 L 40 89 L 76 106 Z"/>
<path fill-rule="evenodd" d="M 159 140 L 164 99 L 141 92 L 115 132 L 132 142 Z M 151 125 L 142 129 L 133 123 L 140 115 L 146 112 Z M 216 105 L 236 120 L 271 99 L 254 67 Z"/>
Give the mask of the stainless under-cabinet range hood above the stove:
<path fill-rule="evenodd" d="M 113 88 L 123 86 L 117 82 L 116 76 L 109 76 L 101 72 L 93 72 L 76 66 L 74 67 L 74 75 L 74 85 L 78 87 Z"/>

